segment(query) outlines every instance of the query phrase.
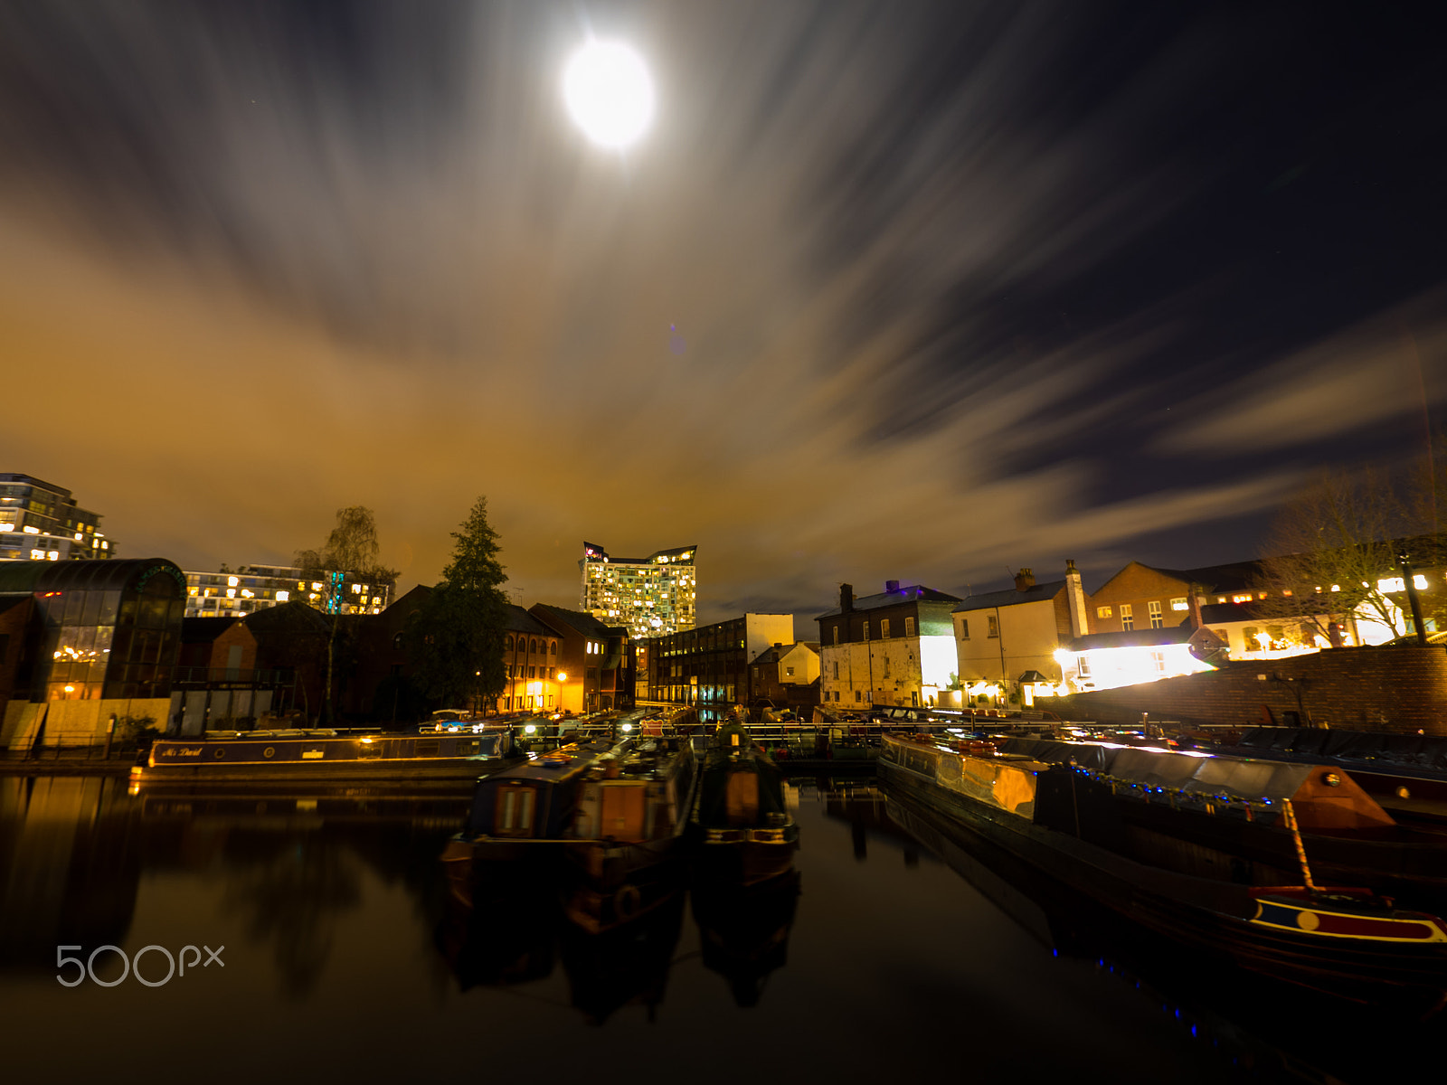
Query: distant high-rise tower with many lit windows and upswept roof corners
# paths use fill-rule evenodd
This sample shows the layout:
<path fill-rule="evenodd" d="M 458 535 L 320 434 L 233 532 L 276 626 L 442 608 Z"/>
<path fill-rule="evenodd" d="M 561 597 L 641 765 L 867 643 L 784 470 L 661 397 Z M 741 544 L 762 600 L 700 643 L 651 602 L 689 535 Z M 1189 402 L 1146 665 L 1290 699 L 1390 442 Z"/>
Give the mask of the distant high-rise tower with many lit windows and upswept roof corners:
<path fill-rule="evenodd" d="M 657 550 L 648 557 L 609 557 L 583 542 L 582 610 L 603 625 L 627 626 L 631 637 L 666 637 L 695 626 L 697 547 Z"/>

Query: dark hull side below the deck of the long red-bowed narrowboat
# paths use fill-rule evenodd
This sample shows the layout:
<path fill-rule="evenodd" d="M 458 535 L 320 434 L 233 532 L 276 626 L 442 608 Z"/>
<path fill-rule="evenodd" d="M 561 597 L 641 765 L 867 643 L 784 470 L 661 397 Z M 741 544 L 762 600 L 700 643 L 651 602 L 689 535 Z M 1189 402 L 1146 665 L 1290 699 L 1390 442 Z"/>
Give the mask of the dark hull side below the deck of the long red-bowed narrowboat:
<path fill-rule="evenodd" d="M 1389 942 L 1323 937 L 1286 922 L 1269 926 L 1263 916 L 1297 922 L 1308 910 L 1272 907 L 1272 898 L 1259 900 L 1250 887 L 1146 867 L 1035 825 L 1033 812 L 1022 814 L 1020 804 L 990 806 L 890 760 L 880 761 L 880 777 L 891 799 L 922 804 L 1132 923 L 1195 950 L 1362 1003 L 1431 1011 L 1447 998 L 1447 937 Z"/>

